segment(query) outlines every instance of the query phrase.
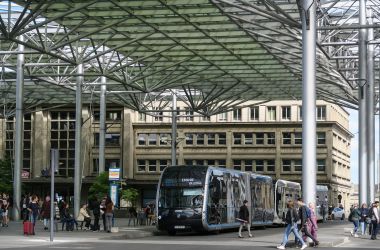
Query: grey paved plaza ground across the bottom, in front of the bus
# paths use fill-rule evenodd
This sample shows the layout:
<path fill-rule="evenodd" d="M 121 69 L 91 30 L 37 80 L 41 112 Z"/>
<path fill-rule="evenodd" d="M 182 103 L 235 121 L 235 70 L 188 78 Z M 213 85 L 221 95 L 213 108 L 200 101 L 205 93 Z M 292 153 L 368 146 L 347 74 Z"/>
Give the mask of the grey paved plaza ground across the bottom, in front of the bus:
<path fill-rule="evenodd" d="M 118 233 L 73 231 L 55 234 L 54 242 L 49 241 L 49 232 L 39 223 L 35 236 L 23 236 L 21 223 L 13 222 L 9 228 L 0 230 L 1 249 L 152 249 L 192 250 L 192 249 L 275 249 L 282 239 L 284 228 L 273 227 L 253 230 L 254 237 L 239 239 L 236 231 L 219 234 L 184 233 L 177 236 L 158 234 L 154 226 L 128 227 L 126 219 L 118 219 Z M 330 249 L 375 249 L 380 240 L 371 241 L 368 237 L 352 238 L 351 224 L 334 221 L 319 224 L 319 248 Z M 246 232 L 245 232 L 246 233 Z M 292 240 L 290 241 L 292 242 Z M 289 249 L 296 249 L 289 246 Z M 312 247 L 310 247 L 311 249 Z"/>

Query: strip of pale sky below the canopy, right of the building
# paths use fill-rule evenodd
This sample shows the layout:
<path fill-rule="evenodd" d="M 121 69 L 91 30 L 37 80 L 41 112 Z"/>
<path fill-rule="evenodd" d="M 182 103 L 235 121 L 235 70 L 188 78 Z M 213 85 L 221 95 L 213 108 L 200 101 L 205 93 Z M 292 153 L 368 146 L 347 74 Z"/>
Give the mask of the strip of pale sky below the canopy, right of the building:
<path fill-rule="evenodd" d="M 358 111 L 348 109 L 350 113 L 350 132 L 354 135 L 354 138 L 351 140 L 351 182 L 358 184 L 359 183 L 359 119 L 358 119 Z M 378 156 L 379 156 L 379 116 L 375 116 L 375 143 L 376 143 L 376 166 L 378 165 Z M 376 176 L 379 176 L 378 172 L 376 172 Z M 378 183 L 378 178 L 375 178 L 375 182 Z"/>

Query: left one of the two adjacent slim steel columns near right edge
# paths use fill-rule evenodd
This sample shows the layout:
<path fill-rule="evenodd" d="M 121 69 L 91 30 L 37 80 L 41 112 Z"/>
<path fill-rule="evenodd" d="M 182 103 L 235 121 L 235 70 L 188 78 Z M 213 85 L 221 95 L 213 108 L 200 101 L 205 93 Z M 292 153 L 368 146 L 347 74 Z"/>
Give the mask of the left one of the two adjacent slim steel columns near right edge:
<path fill-rule="evenodd" d="M 359 2 L 359 23 L 366 24 L 366 1 Z M 359 31 L 359 203 L 368 203 L 367 198 L 367 31 L 362 28 Z"/>

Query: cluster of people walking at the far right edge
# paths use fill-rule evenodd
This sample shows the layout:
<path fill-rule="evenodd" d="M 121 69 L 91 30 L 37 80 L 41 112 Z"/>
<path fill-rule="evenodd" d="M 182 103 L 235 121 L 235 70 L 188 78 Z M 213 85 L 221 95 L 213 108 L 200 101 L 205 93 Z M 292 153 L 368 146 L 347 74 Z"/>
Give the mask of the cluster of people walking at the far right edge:
<path fill-rule="evenodd" d="M 360 232 L 362 236 L 370 236 L 371 240 L 376 240 L 380 227 L 379 201 L 375 201 L 370 207 L 366 203 L 363 203 L 360 208 L 358 204 L 354 204 L 350 210 L 348 220 L 354 226 L 351 230 L 351 236 L 359 237 L 358 233 Z"/>

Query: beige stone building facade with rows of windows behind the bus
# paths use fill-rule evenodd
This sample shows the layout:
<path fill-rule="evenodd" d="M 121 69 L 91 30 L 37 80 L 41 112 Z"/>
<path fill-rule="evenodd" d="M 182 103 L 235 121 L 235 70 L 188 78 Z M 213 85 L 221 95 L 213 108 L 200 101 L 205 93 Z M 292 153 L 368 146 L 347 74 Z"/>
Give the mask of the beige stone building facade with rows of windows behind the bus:
<path fill-rule="evenodd" d="M 177 103 L 177 164 L 210 165 L 253 171 L 276 179 L 301 182 L 302 107 L 300 101 L 271 101 L 235 108 L 211 117 L 198 116 Z M 168 109 L 169 111 L 170 109 Z M 99 110 L 82 110 L 82 197 L 98 175 Z M 351 192 L 349 114 L 341 107 L 317 102 L 317 182 L 329 187 L 329 204 L 349 206 Z M 0 120 L 0 157 L 13 156 L 14 118 Z M 105 167 L 121 168 L 127 186 L 140 189 L 140 205 L 155 198 L 162 170 L 171 164 L 170 112 L 154 116 L 123 107 L 106 112 Z M 36 111 L 24 116 L 22 178 L 41 195 L 50 149 L 59 151 L 57 192 L 73 193 L 75 107 Z"/>

